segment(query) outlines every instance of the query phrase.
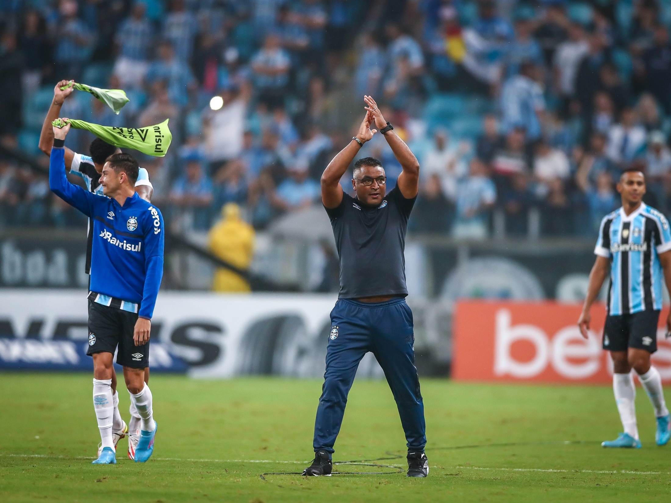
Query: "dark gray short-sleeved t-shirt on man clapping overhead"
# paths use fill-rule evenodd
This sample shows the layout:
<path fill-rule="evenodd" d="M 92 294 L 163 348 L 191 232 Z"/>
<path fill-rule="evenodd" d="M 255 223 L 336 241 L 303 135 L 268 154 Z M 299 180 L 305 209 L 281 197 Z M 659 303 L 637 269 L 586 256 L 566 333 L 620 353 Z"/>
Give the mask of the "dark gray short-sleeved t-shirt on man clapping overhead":
<path fill-rule="evenodd" d="M 339 298 L 407 296 L 403 251 L 416 199 L 405 199 L 397 186 L 378 207 L 343 194 L 338 207 L 326 209 L 340 259 Z"/>

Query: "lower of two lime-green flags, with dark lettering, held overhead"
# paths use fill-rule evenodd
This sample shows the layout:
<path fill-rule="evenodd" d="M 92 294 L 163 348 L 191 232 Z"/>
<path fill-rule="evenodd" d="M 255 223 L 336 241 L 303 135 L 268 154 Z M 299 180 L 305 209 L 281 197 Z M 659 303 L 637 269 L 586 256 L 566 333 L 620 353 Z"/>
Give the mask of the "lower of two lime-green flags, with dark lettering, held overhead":
<path fill-rule="evenodd" d="M 160 124 L 147 127 L 112 127 L 91 124 L 90 122 L 69 119 L 75 129 L 86 129 L 94 135 L 119 148 L 132 148 L 148 156 L 163 157 L 168 152 L 172 133 L 168 129 L 168 119 Z M 63 127 L 66 122 L 56 119 L 54 127 Z"/>

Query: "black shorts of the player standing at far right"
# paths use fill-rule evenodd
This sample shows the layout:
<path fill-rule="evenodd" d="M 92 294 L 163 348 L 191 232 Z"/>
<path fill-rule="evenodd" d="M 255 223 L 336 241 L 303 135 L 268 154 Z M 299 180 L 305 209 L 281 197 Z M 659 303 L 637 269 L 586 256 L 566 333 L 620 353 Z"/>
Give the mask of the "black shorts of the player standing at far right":
<path fill-rule="evenodd" d="M 606 317 L 603 329 L 603 349 L 627 351 L 628 347 L 657 351 L 657 322 L 660 311 L 640 311 L 633 315 Z"/>

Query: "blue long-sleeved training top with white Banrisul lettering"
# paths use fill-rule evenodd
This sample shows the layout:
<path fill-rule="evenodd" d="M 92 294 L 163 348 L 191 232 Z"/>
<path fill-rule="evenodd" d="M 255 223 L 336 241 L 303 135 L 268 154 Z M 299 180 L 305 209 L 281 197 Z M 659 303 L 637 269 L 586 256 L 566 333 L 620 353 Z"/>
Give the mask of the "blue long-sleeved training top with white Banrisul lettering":
<path fill-rule="evenodd" d="M 65 150 L 52 148 L 49 186 L 58 197 L 93 219 L 91 291 L 140 304 L 151 319 L 163 277 L 163 217 L 137 193 L 119 205 L 115 199 L 71 184 Z"/>

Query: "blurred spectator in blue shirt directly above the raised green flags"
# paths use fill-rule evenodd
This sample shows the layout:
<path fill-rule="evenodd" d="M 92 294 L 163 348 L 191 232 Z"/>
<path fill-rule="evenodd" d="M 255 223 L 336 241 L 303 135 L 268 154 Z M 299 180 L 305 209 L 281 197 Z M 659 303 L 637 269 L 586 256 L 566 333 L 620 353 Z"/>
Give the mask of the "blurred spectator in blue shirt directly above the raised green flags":
<path fill-rule="evenodd" d="M 56 79 L 74 79 L 79 77 L 89 57 L 91 42 L 95 35 L 89 27 L 77 17 L 79 9 L 76 1 L 63 0 L 58 7 L 60 19 L 56 23 Z"/>

